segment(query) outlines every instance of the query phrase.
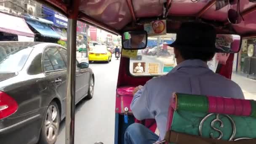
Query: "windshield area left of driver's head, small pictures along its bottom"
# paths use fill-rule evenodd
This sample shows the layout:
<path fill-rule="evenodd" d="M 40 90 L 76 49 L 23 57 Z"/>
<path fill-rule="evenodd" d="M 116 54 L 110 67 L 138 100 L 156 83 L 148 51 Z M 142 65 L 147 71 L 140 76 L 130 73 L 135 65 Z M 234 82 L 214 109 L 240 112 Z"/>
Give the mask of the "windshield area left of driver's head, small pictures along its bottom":
<path fill-rule="evenodd" d="M 176 66 L 173 43 L 176 34 L 148 37 L 147 48 L 138 50 L 137 56 L 130 59 L 132 75 L 164 75 Z"/>

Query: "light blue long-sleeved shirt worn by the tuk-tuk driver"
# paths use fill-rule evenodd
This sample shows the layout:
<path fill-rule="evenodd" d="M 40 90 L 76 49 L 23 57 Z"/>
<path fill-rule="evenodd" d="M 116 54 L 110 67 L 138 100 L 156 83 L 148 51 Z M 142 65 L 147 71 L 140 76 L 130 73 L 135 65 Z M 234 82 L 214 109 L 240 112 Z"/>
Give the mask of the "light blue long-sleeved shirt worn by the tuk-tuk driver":
<path fill-rule="evenodd" d="M 149 80 L 135 93 L 131 102 L 131 110 L 138 120 L 155 118 L 160 132 L 159 140 L 165 136 L 173 92 L 244 99 L 239 85 L 214 73 L 206 62 L 183 61 L 168 74 Z"/>

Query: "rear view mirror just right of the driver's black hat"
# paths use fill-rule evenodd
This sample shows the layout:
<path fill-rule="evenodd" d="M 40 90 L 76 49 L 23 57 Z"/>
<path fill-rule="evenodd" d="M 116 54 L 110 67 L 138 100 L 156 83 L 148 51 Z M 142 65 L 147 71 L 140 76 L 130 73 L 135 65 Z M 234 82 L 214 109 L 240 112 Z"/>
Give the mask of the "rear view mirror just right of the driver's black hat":
<path fill-rule="evenodd" d="M 240 35 L 218 34 L 216 48 L 218 53 L 237 53 L 241 45 Z"/>

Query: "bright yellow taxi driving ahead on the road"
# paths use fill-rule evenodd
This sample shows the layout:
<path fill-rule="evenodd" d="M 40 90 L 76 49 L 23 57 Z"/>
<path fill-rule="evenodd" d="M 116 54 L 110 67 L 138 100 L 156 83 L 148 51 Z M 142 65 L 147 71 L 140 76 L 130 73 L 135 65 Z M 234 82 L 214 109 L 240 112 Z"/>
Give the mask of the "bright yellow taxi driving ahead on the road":
<path fill-rule="evenodd" d="M 109 63 L 112 58 L 112 53 L 107 49 L 106 45 L 95 45 L 91 51 L 89 51 L 88 60 L 89 63 L 93 61 L 106 61 Z"/>

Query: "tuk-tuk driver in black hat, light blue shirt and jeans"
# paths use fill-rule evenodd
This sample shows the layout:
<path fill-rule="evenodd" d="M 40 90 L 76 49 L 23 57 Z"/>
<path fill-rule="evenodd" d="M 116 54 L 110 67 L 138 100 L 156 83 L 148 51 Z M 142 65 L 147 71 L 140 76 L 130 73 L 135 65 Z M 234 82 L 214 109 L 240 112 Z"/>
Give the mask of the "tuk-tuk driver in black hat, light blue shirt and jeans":
<path fill-rule="evenodd" d="M 173 92 L 244 99 L 239 85 L 207 65 L 215 55 L 215 28 L 208 24 L 183 23 L 172 43 L 177 66 L 166 75 L 149 80 L 133 91 L 131 110 L 138 120 L 154 118 L 160 136 L 139 123 L 125 131 L 125 144 L 152 144 L 165 137 L 168 106 Z"/>

